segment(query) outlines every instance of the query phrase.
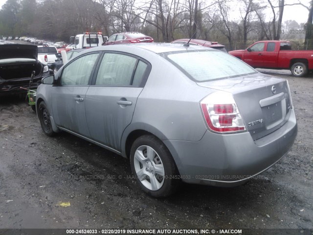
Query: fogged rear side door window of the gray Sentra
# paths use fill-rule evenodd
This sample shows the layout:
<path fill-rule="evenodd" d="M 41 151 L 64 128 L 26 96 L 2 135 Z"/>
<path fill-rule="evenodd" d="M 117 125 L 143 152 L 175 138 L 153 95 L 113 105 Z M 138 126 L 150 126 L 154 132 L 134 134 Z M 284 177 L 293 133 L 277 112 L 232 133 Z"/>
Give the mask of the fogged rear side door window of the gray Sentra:
<path fill-rule="evenodd" d="M 138 62 L 138 63 L 137 63 Z M 140 86 L 147 64 L 129 55 L 105 53 L 99 67 L 95 85 Z"/>

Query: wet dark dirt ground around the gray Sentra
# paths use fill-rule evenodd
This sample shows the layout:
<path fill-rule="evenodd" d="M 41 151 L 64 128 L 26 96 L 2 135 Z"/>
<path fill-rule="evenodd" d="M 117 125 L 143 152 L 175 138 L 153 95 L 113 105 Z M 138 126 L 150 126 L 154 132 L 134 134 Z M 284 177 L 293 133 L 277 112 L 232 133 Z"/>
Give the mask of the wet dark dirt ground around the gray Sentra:
<path fill-rule="evenodd" d="M 166 199 L 139 189 L 127 159 L 67 133 L 49 138 L 23 98 L 2 97 L 0 229 L 313 229 L 313 76 L 266 72 L 291 88 L 299 130 L 288 155 L 243 186 L 185 184 Z"/>

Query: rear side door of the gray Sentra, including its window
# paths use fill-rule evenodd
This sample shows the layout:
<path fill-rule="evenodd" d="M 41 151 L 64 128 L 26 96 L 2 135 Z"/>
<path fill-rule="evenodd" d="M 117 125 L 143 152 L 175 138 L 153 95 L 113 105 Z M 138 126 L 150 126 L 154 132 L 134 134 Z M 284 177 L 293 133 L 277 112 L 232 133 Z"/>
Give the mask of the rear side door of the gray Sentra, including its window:
<path fill-rule="evenodd" d="M 90 136 L 120 151 L 121 137 L 131 123 L 137 98 L 151 65 L 135 56 L 106 52 L 86 94 Z"/>

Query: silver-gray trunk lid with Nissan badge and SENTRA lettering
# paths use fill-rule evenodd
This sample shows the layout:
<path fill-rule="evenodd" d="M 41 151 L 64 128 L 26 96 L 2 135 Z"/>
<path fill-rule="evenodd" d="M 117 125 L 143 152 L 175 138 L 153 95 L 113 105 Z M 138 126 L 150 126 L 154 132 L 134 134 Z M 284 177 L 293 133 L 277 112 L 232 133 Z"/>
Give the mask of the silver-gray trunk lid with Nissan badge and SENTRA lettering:
<path fill-rule="evenodd" d="M 291 97 L 286 79 L 257 73 L 197 84 L 233 94 L 253 140 L 280 128 L 290 114 Z"/>

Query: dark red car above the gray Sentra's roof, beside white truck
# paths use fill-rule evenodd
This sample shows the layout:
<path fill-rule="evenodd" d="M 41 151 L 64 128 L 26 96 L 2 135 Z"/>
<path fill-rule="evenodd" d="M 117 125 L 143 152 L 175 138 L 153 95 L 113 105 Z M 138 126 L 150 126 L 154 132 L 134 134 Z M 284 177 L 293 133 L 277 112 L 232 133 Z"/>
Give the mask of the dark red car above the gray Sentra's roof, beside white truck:
<path fill-rule="evenodd" d="M 123 43 L 153 43 L 153 38 L 142 33 L 115 33 L 102 45 Z"/>

